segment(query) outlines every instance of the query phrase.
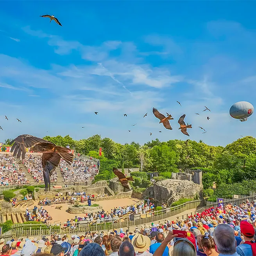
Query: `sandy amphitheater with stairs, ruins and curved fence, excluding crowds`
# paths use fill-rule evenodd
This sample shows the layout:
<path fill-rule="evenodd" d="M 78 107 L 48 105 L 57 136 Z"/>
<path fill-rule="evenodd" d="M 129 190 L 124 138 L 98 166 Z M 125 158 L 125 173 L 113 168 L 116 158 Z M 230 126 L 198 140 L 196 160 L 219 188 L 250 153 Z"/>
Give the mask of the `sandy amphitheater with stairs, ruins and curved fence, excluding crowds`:
<path fill-rule="evenodd" d="M 7 154 L 9 158 L 12 158 L 11 153 L 9 152 L 0 152 L 0 156 Z M 27 156 L 30 155 L 36 156 L 37 153 L 27 153 Z M 75 155 L 76 161 L 81 161 L 81 163 L 90 164 L 93 166 L 98 165 L 100 168 L 99 160 L 95 158 L 90 158 L 88 156 Z M 12 159 L 13 161 L 13 159 Z M 1 166 L 1 165 L 0 165 Z M 19 168 L 23 175 L 25 175 L 25 184 L 32 186 L 38 186 L 43 184 L 40 181 L 37 181 L 32 177 L 32 173 L 29 171 L 29 168 L 26 168 L 25 163 L 15 159 L 13 166 Z M 63 169 L 63 168 L 62 168 Z M 155 208 L 149 209 L 149 211 L 144 211 L 141 213 L 127 213 L 122 214 L 122 216 L 115 216 L 111 219 L 104 219 L 99 221 L 96 220 L 81 220 L 75 224 L 75 227 L 67 226 L 66 221 L 68 219 L 75 219 L 79 216 L 84 216 L 90 213 L 96 213 L 104 209 L 105 212 L 111 212 L 114 208 L 120 208 L 127 206 L 139 206 L 141 202 L 145 202 L 145 199 L 150 198 L 154 204 L 158 204 L 156 200 L 152 197 L 157 198 L 158 193 L 161 191 L 161 184 L 156 184 L 155 187 L 149 188 L 144 194 L 135 193 L 132 190 L 125 190 L 122 185 L 117 181 L 117 178 L 108 181 L 98 181 L 93 184 L 93 177 L 88 179 L 88 182 L 70 182 L 63 178 L 63 172 L 60 167 L 56 168 L 56 177 L 52 182 L 52 188 L 50 192 L 45 193 L 44 188 L 36 188 L 32 194 L 31 198 L 24 200 L 20 196 L 20 191 L 24 184 L 5 184 L 0 186 L 0 192 L 4 190 L 14 190 L 14 193 L 17 195 L 16 203 L 13 207 L 2 206 L 0 217 L 2 218 L 1 222 L 4 223 L 7 220 L 13 222 L 11 230 L 6 233 L 2 233 L 1 236 L 7 240 L 11 237 L 30 237 L 30 236 L 42 236 L 42 235 L 51 235 L 54 232 L 58 234 L 82 234 L 86 231 L 110 231 L 113 229 L 120 230 L 123 229 L 133 229 L 134 227 L 150 224 L 152 222 L 160 222 L 161 220 L 175 220 L 177 218 L 184 218 L 188 215 L 200 213 L 204 210 L 204 200 L 195 200 L 191 202 L 186 202 L 176 207 L 166 207 L 156 211 Z M 98 173 L 98 170 L 97 170 Z M 64 179 L 64 181 L 63 181 Z M 176 180 L 175 180 L 176 179 Z M 185 179 L 184 181 L 182 179 Z M 172 183 L 176 184 L 175 189 L 183 186 L 183 183 L 193 183 L 193 177 L 191 174 L 187 174 L 186 177 L 176 177 Z M 196 190 L 200 190 L 200 184 L 193 183 L 193 186 L 196 186 Z M 163 192 L 167 193 L 163 188 Z M 168 191 L 168 189 L 167 189 Z M 86 195 L 93 195 L 92 206 L 88 206 L 87 201 L 81 202 L 81 195 L 76 195 L 75 204 L 72 204 L 72 192 L 84 192 Z M 153 195 L 155 193 L 155 195 Z M 168 191 L 168 196 L 171 196 L 172 191 Z M 151 197 L 149 197 L 151 196 Z M 3 196 L 2 197 L 2 202 Z M 38 222 L 38 224 L 30 224 L 28 217 L 26 215 L 26 209 L 32 211 L 35 206 L 38 208 L 41 207 L 40 203 L 45 200 L 51 201 L 50 205 L 42 206 L 45 211 L 51 217 L 47 223 Z M 60 200 L 63 198 L 64 200 Z M 57 200 L 57 201 L 55 201 Z M 178 200 L 176 198 L 176 200 Z M 167 200 L 166 200 L 167 201 Z M 146 201 L 147 202 L 147 201 Z M 9 203 L 10 204 L 10 203 Z M 156 206 L 155 205 L 155 206 Z M 61 213 L 61 214 L 60 214 Z"/>

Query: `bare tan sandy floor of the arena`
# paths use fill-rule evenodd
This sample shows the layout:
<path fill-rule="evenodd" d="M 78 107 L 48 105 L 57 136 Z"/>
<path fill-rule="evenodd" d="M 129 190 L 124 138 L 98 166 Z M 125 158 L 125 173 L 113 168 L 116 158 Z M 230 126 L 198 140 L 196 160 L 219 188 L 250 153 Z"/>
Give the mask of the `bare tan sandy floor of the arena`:
<path fill-rule="evenodd" d="M 122 199 L 114 199 L 114 200 L 106 200 L 106 201 L 92 201 L 92 204 L 98 204 L 104 211 L 111 211 L 114 207 L 119 206 L 127 206 L 134 204 L 136 202 L 140 201 L 136 198 L 122 198 Z M 82 204 L 82 203 L 81 203 Z M 36 206 L 38 206 L 38 201 L 35 202 Z M 30 209 L 34 208 L 33 206 L 30 206 Z M 71 214 L 67 212 L 68 207 L 71 204 L 54 204 L 52 206 L 44 206 L 44 208 L 48 211 L 48 213 L 52 216 L 51 223 L 64 223 L 67 221 L 67 219 L 74 218 L 76 215 L 80 217 L 84 217 L 84 214 Z M 84 203 L 84 205 L 87 205 L 87 202 Z M 55 209 L 55 206 L 62 206 L 61 210 Z M 39 206 L 38 206 L 39 207 Z"/>

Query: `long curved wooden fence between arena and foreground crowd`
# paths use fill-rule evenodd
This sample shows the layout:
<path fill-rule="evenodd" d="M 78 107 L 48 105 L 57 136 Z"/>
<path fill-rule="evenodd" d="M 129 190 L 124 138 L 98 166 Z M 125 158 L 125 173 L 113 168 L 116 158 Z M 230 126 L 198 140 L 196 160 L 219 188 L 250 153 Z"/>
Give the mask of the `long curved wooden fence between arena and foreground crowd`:
<path fill-rule="evenodd" d="M 122 228 L 131 228 L 134 226 L 141 226 L 145 224 L 150 224 L 152 222 L 158 222 L 160 220 L 167 220 L 168 218 L 178 215 L 184 211 L 189 209 L 195 209 L 199 206 L 204 206 L 204 200 L 197 200 L 186 202 L 179 206 L 165 208 L 161 211 L 155 211 L 153 213 L 147 214 L 131 214 L 127 217 L 112 219 L 112 220 L 104 220 L 101 223 L 97 222 L 88 222 L 88 221 L 80 221 L 77 222 L 77 226 L 72 228 L 71 226 L 65 227 L 63 223 L 59 224 L 14 224 L 13 228 L 8 231 L 8 233 L 3 234 L 3 237 L 8 238 L 18 238 L 18 237 L 29 237 L 29 236 L 43 236 L 43 235 L 51 235 L 52 233 L 57 233 L 59 235 L 64 234 L 84 234 L 87 231 L 109 231 L 113 229 Z M 197 212 L 202 211 L 202 208 Z M 195 214 L 195 211 L 191 214 Z M 190 215 L 191 215 L 190 214 Z M 188 217 L 188 214 L 183 215 L 183 217 Z"/>

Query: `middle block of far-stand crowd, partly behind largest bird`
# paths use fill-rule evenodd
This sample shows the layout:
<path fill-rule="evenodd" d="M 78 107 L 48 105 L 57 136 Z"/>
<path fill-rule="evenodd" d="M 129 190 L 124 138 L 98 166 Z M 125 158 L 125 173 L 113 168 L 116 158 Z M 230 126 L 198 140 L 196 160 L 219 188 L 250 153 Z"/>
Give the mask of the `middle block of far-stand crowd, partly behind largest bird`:
<path fill-rule="evenodd" d="M 43 165 L 41 155 L 26 154 L 22 163 L 36 182 L 43 183 Z M 57 182 L 56 171 L 52 173 L 51 181 Z"/>

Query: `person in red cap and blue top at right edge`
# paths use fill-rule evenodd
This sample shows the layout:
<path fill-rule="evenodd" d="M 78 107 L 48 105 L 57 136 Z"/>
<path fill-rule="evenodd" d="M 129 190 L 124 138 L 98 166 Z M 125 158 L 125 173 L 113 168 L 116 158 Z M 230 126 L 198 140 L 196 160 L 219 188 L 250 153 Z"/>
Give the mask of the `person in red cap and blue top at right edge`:
<path fill-rule="evenodd" d="M 240 223 L 240 229 L 245 242 L 236 247 L 236 252 L 240 256 L 252 256 L 252 245 L 256 246 L 253 237 L 255 234 L 254 228 L 252 224 L 246 220 L 242 220 Z"/>

